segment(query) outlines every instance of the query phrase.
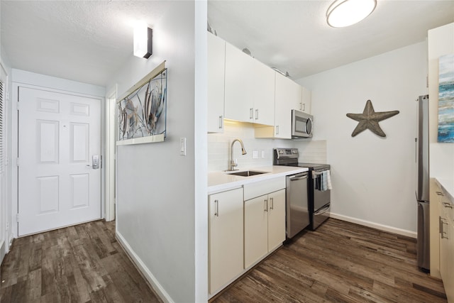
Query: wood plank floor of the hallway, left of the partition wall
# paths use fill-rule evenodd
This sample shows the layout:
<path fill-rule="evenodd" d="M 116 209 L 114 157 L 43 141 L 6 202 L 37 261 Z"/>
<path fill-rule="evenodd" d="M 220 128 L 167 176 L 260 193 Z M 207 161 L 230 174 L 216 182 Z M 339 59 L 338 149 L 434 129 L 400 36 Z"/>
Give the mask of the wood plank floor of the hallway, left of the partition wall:
<path fill-rule="evenodd" d="M 115 239 L 115 221 L 17 238 L 1 265 L 1 302 L 162 302 Z"/>

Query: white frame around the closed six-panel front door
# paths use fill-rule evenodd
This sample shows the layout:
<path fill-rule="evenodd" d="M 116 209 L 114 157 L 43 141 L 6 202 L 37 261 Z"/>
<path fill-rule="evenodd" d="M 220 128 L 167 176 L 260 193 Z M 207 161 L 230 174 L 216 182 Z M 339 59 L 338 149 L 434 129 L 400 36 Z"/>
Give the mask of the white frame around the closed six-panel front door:
<path fill-rule="evenodd" d="M 21 71 L 22 72 L 22 71 Z M 18 72 L 18 74 L 21 74 Z M 14 72 L 13 72 L 14 75 Z M 89 97 L 89 98 L 94 98 L 94 99 L 101 99 L 101 155 L 103 158 L 105 158 L 104 155 L 104 150 L 106 148 L 105 145 L 105 140 L 104 140 L 104 130 L 103 125 L 104 125 L 104 119 L 105 119 L 105 114 L 104 110 L 105 109 L 105 98 L 104 94 L 103 97 L 100 97 L 99 94 L 96 94 L 98 91 L 98 87 L 94 87 L 89 84 L 82 84 L 79 82 L 72 82 L 69 80 L 64 80 L 64 79 L 57 79 L 53 77 L 48 77 L 45 75 L 38 75 L 38 74 L 33 74 L 30 73 L 31 76 L 35 77 L 35 80 L 38 84 L 40 85 L 34 85 L 34 84 L 25 84 L 21 82 L 20 80 L 14 78 L 12 79 L 12 84 L 13 84 L 13 89 L 12 89 L 12 99 L 11 99 L 11 107 L 12 107 L 12 114 L 11 114 L 11 232 L 13 233 L 13 237 L 17 238 L 18 237 L 18 221 L 16 214 L 18 214 L 18 166 L 17 166 L 17 158 L 18 158 L 18 87 L 28 87 L 31 89 L 46 89 L 49 92 L 58 92 L 58 93 L 63 93 L 63 94 L 75 94 L 79 95 L 82 97 Z M 28 78 L 29 74 L 28 72 L 24 72 L 23 75 L 20 75 L 21 77 L 26 79 L 26 82 L 30 80 Z M 55 89 L 52 88 L 52 83 L 54 83 L 57 79 L 58 84 L 62 86 L 62 89 Z M 60 82 L 60 81 L 61 82 Z M 43 84 L 43 85 L 41 85 Z M 58 85 L 58 86 L 60 86 Z M 82 91 L 82 92 L 81 92 Z M 84 93 L 87 92 L 88 94 Z M 104 166 L 101 168 L 101 218 L 104 219 L 105 214 L 105 194 L 104 194 Z"/>

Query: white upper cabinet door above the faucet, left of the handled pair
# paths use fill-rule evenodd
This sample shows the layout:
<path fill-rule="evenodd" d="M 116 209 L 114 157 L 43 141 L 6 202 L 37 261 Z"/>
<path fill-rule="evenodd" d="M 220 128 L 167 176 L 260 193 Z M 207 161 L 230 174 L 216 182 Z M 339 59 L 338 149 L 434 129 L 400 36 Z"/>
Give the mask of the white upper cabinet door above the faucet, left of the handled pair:
<path fill-rule="evenodd" d="M 226 119 L 253 121 L 252 64 L 253 57 L 226 43 Z"/>

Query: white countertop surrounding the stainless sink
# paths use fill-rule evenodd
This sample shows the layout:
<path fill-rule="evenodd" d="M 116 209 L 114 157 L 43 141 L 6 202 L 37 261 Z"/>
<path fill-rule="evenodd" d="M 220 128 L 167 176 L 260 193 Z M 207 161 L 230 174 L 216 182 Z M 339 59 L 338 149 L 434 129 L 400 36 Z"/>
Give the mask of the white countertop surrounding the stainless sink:
<path fill-rule="evenodd" d="M 265 174 L 253 175 L 250 177 L 240 177 L 236 175 L 229 175 L 229 172 L 209 172 L 208 173 L 208 194 L 215 194 L 216 192 L 223 192 L 229 189 L 234 189 L 243 186 L 244 184 L 269 180 L 275 177 L 284 177 L 293 175 L 298 172 L 307 172 L 307 167 L 290 167 L 290 166 L 262 166 L 253 167 L 245 170 L 255 170 L 258 172 L 266 172 Z M 242 172 L 244 170 L 237 170 Z"/>

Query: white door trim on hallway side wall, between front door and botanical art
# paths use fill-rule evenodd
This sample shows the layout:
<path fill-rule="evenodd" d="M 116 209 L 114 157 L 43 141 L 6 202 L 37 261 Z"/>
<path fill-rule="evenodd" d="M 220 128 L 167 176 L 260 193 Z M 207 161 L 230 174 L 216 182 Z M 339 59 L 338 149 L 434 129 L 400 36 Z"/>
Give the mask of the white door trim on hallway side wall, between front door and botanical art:
<path fill-rule="evenodd" d="M 106 153 L 104 161 L 104 173 L 106 184 L 106 221 L 115 220 L 115 201 L 116 201 L 116 186 L 115 186 L 115 160 L 116 160 L 116 96 L 117 87 L 106 94 Z"/>

